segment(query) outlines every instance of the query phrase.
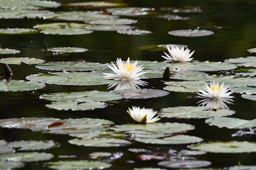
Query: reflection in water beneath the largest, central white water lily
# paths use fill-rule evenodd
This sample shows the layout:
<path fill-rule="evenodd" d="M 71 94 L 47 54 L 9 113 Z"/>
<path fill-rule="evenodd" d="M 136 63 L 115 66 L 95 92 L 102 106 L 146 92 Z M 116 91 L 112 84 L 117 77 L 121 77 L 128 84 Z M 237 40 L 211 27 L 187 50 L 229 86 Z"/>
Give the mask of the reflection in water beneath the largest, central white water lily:
<path fill-rule="evenodd" d="M 140 86 L 145 86 L 147 85 L 147 82 L 142 81 L 142 80 L 120 80 L 117 83 L 113 83 L 108 85 L 108 89 L 115 87 L 114 90 L 125 90 L 125 89 L 140 89 Z"/>

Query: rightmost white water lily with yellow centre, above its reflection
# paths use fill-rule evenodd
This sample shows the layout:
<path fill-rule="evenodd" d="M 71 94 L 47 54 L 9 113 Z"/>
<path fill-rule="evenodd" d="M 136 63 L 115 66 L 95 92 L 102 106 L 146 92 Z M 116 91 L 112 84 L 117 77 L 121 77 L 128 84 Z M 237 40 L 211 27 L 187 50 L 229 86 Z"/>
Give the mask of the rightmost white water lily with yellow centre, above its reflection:
<path fill-rule="evenodd" d="M 203 96 L 204 98 L 218 98 L 218 99 L 233 98 L 233 96 L 230 95 L 233 92 L 229 91 L 228 85 L 225 86 L 224 83 L 222 83 L 219 86 L 218 82 L 217 83 L 213 82 L 212 84 L 210 83 L 210 87 L 205 83 L 205 86 L 203 86 L 203 88 L 206 91 L 199 89 L 201 93 L 197 93 L 197 94 Z"/>

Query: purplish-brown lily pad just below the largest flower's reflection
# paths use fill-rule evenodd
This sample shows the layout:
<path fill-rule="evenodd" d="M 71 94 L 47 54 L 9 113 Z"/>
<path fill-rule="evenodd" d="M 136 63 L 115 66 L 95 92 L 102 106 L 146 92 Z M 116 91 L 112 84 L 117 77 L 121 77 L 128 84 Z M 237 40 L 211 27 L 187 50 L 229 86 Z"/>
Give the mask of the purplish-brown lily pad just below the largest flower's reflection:
<path fill-rule="evenodd" d="M 148 99 L 159 98 L 168 95 L 168 91 L 158 89 L 131 89 L 131 90 L 115 90 L 116 94 L 121 94 L 125 99 Z"/>

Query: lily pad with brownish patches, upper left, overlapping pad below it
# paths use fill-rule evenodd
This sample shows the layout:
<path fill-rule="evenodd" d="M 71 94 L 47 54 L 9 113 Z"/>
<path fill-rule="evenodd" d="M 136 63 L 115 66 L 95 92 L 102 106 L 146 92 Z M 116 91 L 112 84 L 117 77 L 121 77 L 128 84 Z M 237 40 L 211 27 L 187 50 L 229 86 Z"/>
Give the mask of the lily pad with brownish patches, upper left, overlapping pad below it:
<path fill-rule="evenodd" d="M 44 23 L 33 26 L 37 30 L 52 30 L 52 29 L 82 29 L 88 26 L 87 23 L 74 23 L 74 22 L 54 22 L 54 23 Z"/>

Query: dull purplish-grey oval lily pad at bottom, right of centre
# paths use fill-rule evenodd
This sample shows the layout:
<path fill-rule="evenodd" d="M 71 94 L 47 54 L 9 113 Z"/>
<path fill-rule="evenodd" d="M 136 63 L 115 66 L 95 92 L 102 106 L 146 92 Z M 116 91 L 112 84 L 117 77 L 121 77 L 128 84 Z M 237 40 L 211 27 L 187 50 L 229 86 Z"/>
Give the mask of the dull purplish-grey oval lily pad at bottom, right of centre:
<path fill-rule="evenodd" d="M 159 162 L 158 165 L 170 168 L 197 168 L 209 166 L 211 162 L 204 160 L 169 160 Z"/>

